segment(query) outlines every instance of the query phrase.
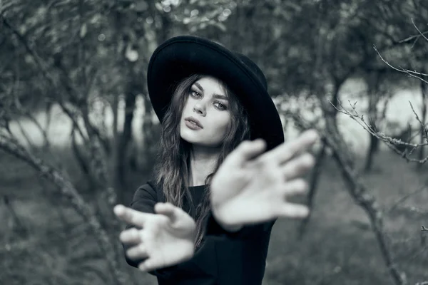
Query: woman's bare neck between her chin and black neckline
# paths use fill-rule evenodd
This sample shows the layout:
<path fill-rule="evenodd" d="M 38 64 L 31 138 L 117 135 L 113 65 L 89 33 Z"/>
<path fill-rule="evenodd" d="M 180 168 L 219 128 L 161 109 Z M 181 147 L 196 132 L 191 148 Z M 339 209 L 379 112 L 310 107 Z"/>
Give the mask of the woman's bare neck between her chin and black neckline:
<path fill-rule="evenodd" d="M 219 148 L 193 145 L 190 152 L 190 185 L 205 185 L 205 178 L 214 171 Z"/>

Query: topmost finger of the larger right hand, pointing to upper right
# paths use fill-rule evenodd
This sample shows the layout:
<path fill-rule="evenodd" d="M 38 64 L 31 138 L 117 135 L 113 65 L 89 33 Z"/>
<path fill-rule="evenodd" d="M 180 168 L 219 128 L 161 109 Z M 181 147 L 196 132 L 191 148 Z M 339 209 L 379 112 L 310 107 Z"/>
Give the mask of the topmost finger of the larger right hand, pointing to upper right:
<path fill-rule="evenodd" d="M 266 156 L 268 156 L 269 159 L 282 164 L 287 160 L 290 160 L 293 156 L 307 150 L 317 141 L 317 139 L 318 134 L 315 130 L 307 130 L 298 138 L 278 145 L 270 152 L 267 152 Z"/>

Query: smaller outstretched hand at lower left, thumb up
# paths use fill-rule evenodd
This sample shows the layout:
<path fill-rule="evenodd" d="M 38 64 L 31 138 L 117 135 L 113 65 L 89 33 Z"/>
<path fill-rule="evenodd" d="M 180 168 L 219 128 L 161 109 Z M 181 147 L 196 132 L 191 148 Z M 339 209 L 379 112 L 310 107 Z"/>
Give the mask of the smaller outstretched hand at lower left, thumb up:
<path fill-rule="evenodd" d="M 131 246 L 128 258 L 144 259 L 138 269 L 152 271 L 193 257 L 195 221 L 182 209 L 158 203 L 156 214 L 149 214 L 118 204 L 113 211 L 124 222 L 141 228 L 126 229 L 120 235 L 121 242 Z"/>

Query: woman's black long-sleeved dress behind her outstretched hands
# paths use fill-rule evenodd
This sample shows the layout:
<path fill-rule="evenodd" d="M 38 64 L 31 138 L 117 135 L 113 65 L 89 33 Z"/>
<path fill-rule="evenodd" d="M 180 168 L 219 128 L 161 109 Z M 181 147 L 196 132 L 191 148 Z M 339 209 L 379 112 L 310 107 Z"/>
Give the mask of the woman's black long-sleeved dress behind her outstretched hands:
<path fill-rule="evenodd" d="M 189 187 L 194 204 L 200 202 L 204 189 L 204 185 Z M 163 192 L 146 184 L 136 191 L 131 208 L 154 213 L 157 202 L 165 202 Z M 183 209 L 188 210 L 185 205 Z M 159 285 L 260 285 L 274 223 L 275 220 L 246 226 L 230 233 L 210 216 L 203 246 L 192 259 L 149 273 L 157 277 Z M 126 261 L 138 267 L 139 262 L 127 257 Z"/>

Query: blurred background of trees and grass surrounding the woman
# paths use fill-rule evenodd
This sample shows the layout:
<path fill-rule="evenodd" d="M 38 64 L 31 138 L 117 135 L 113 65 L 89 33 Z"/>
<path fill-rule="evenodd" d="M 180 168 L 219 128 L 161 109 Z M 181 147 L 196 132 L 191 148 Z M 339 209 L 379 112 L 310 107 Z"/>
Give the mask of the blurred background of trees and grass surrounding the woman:
<path fill-rule="evenodd" d="M 428 284 L 427 24 L 426 0 L 0 1 L 0 284 L 156 284 L 112 209 L 150 178 L 146 69 L 182 34 L 258 63 L 287 139 L 325 138 L 263 284 Z"/>

